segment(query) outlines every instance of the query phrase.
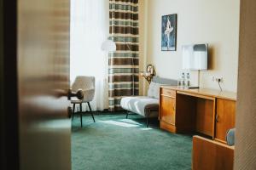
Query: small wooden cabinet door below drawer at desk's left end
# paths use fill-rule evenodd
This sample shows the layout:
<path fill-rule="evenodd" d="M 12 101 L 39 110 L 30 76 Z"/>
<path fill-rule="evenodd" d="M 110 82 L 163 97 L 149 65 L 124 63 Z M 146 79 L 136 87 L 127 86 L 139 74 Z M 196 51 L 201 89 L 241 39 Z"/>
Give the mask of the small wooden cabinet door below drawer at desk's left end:
<path fill-rule="evenodd" d="M 160 120 L 175 125 L 175 98 L 162 95 L 160 104 Z"/>

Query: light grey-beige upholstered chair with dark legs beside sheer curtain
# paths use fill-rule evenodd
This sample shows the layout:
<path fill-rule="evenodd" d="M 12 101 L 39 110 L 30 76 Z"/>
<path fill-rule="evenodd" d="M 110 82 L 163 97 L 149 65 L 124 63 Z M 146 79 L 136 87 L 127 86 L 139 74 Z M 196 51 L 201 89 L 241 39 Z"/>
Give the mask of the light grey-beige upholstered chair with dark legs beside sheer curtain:
<path fill-rule="evenodd" d="M 77 99 L 73 98 L 71 99 L 71 103 L 73 104 L 73 115 L 75 111 L 75 106 L 80 105 L 80 121 L 81 121 L 81 127 L 83 126 L 83 121 L 82 121 L 82 104 L 87 103 L 90 109 L 90 114 L 92 116 L 93 122 L 95 122 L 93 112 L 91 111 L 90 108 L 90 101 L 94 98 L 95 94 L 95 77 L 76 77 L 75 81 L 73 82 L 72 85 L 72 90 L 74 92 L 78 91 L 79 89 L 82 89 L 84 92 L 84 99 Z M 73 119 L 73 116 L 72 116 Z"/>

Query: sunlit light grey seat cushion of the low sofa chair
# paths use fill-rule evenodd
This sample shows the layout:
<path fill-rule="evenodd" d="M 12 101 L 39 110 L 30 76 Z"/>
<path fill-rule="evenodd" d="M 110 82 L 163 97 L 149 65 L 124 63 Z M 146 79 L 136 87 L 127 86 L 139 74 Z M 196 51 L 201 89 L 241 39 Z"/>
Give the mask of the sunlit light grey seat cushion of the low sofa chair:
<path fill-rule="evenodd" d="M 123 109 L 137 113 L 141 116 L 158 116 L 158 111 L 154 111 L 156 112 L 154 115 L 153 113 L 148 115 L 149 113 L 147 105 L 150 105 L 149 108 L 158 108 L 159 99 L 154 99 L 147 96 L 124 97 L 121 99 L 120 105 Z"/>

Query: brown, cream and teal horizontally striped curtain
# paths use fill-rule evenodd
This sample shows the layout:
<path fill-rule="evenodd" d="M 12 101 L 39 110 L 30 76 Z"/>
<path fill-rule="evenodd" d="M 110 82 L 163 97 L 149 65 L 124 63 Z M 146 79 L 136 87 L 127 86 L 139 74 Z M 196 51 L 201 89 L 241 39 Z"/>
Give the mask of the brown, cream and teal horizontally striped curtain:
<path fill-rule="evenodd" d="M 120 99 L 138 95 L 138 0 L 109 0 L 109 33 L 117 50 L 108 58 L 109 111 Z"/>

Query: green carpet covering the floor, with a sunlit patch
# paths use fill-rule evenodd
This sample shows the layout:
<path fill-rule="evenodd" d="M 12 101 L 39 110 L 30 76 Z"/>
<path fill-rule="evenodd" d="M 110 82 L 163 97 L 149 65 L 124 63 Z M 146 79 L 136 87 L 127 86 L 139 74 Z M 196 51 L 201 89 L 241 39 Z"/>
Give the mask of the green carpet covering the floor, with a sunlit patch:
<path fill-rule="evenodd" d="M 191 169 L 192 138 L 160 130 L 149 122 L 125 114 L 79 116 L 73 119 L 73 170 L 183 170 Z"/>

